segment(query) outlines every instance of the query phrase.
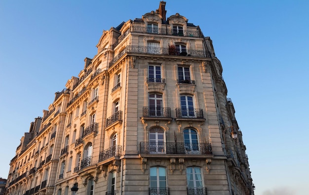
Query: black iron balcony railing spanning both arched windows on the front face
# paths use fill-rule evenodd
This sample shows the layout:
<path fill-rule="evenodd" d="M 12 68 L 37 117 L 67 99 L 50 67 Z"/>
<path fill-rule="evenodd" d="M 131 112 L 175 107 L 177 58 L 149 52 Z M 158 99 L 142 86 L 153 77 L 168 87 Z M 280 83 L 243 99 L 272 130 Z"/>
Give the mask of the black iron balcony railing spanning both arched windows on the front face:
<path fill-rule="evenodd" d="M 211 144 L 141 142 L 140 154 L 212 155 Z"/>

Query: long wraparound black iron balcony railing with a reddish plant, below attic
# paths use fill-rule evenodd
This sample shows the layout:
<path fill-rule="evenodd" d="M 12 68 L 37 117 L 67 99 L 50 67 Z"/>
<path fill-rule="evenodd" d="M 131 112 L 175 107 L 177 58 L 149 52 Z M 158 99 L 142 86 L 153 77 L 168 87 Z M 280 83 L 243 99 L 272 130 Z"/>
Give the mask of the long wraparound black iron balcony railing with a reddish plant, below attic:
<path fill-rule="evenodd" d="M 171 53 L 169 48 L 164 47 L 144 47 L 144 46 L 126 46 L 122 51 L 116 55 L 113 60 L 109 63 L 109 68 L 111 68 L 116 61 L 118 61 L 125 53 L 144 53 L 144 54 L 158 54 L 158 55 L 180 55 L 180 53 L 175 52 Z M 182 53 L 184 55 L 184 53 Z M 187 49 L 186 55 L 191 57 L 201 57 L 201 58 L 210 58 L 210 52 L 204 50 L 192 50 Z"/>

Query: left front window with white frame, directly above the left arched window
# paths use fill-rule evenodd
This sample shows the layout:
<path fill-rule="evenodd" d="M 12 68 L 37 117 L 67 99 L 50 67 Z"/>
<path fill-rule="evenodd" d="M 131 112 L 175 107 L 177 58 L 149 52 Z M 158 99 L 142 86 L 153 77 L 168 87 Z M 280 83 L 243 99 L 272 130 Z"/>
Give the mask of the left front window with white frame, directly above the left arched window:
<path fill-rule="evenodd" d="M 149 94 L 149 116 L 163 116 L 162 104 L 163 102 L 161 94 Z"/>

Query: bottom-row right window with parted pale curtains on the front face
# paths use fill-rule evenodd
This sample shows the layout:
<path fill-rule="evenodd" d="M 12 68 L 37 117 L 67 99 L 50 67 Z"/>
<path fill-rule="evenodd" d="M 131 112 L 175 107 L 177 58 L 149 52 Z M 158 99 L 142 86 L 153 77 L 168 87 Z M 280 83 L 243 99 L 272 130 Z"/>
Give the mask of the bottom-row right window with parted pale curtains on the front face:
<path fill-rule="evenodd" d="M 203 195 L 203 181 L 201 168 L 187 167 L 187 188 L 190 195 Z"/>

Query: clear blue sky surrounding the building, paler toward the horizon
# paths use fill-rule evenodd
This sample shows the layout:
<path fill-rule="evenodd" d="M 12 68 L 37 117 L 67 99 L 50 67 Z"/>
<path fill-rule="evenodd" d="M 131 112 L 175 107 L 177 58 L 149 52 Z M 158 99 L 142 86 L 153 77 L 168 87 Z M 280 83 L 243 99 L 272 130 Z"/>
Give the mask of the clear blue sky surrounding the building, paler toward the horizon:
<path fill-rule="evenodd" d="M 213 40 L 243 133 L 255 195 L 308 194 L 309 1 L 166 0 Z M 0 1 L 0 177 L 103 30 L 159 0 Z"/>

